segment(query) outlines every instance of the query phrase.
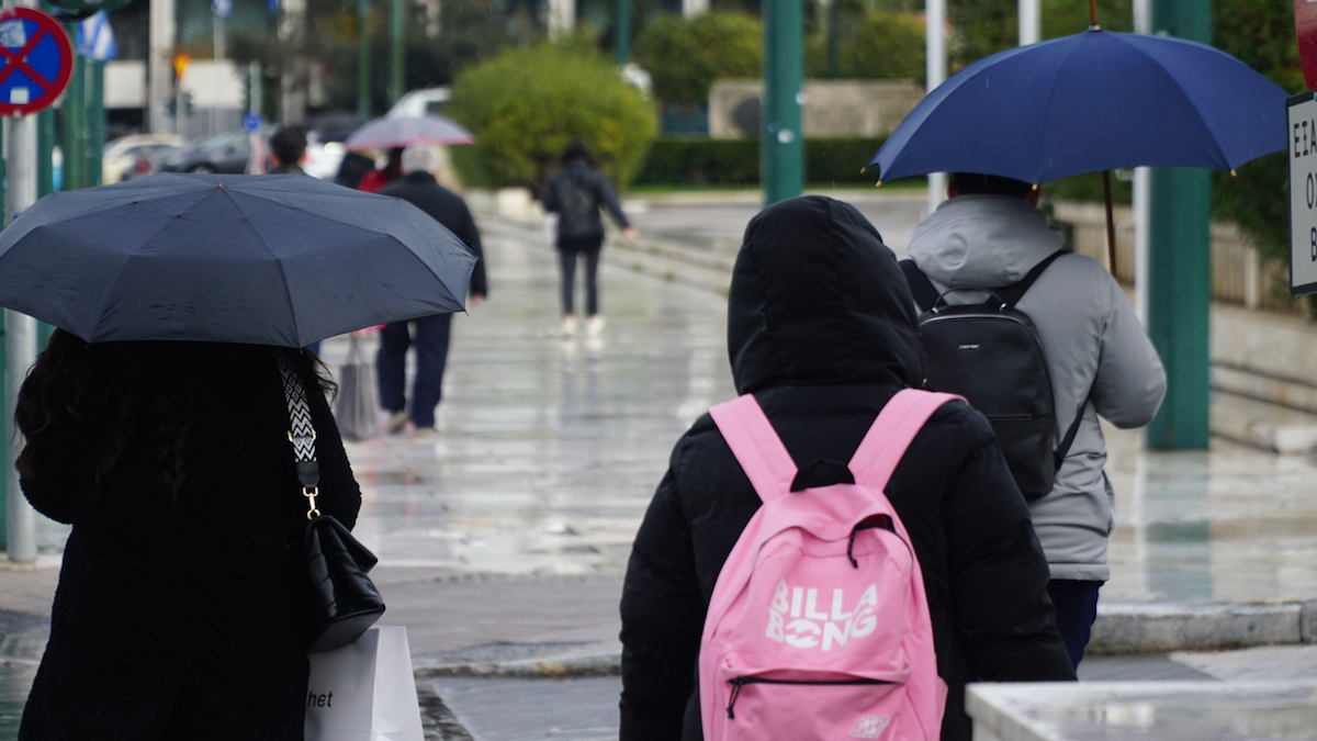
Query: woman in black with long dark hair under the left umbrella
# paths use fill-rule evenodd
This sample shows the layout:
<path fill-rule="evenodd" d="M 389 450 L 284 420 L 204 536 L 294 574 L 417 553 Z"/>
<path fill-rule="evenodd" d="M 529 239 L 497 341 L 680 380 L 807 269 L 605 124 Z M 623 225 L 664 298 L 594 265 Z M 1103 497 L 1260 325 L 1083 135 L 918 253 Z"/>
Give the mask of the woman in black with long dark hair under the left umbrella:
<path fill-rule="evenodd" d="M 352 527 L 361 489 L 311 353 L 50 338 L 18 393 L 18 472 L 72 531 L 18 738 L 303 737 L 307 500 L 278 355 L 307 389 L 316 506 Z"/>

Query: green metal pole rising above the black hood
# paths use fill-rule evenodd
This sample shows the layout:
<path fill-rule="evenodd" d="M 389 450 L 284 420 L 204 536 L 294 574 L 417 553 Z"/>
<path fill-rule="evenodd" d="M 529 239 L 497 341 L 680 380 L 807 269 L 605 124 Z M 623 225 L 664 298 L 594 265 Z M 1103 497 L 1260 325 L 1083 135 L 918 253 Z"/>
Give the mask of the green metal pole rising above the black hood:
<path fill-rule="evenodd" d="M 801 194 L 805 138 L 801 136 L 803 0 L 764 1 L 764 129 L 760 179 L 764 204 Z"/>

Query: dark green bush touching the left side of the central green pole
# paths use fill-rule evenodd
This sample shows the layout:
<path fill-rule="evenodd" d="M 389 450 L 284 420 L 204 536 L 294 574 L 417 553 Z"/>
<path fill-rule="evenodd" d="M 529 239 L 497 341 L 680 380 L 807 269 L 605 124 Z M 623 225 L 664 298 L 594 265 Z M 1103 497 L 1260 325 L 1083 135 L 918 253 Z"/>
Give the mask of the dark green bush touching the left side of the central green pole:
<path fill-rule="evenodd" d="M 636 38 L 636 63 L 653 76 L 655 96 L 690 105 L 709 100 L 716 79 L 759 79 L 764 26 L 745 13 L 661 16 Z"/>

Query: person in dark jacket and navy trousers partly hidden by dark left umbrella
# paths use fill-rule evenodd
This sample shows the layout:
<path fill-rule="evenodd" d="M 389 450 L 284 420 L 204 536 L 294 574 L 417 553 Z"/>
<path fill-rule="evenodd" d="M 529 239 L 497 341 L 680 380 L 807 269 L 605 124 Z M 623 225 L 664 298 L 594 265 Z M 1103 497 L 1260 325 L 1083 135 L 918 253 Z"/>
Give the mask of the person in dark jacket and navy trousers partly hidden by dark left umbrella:
<path fill-rule="evenodd" d="M 379 191 L 381 195 L 402 198 L 457 235 L 475 253 L 478 261 L 471 272 L 470 303 L 477 307 L 489 294 L 485 277 L 485 252 L 475 219 L 460 195 L 439 185 L 432 174 L 437 165 L 429 146 L 408 146 L 398 158 L 403 177 Z M 389 431 L 399 432 L 407 425 L 406 368 L 407 348 L 412 344 L 408 324 L 416 328 L 416 380 L 412 385 L 411 422 L 420 436 L 435 432 L 435 407 L 443 396 L 444 367 L 448 364 L 448 339 L 453 326 L 452 314 L 423 316 L 411 322 L 392 322 L 379 335 L 379 356 L 375 360 L 379 376 L 379 403 L 391 413 Z"/>

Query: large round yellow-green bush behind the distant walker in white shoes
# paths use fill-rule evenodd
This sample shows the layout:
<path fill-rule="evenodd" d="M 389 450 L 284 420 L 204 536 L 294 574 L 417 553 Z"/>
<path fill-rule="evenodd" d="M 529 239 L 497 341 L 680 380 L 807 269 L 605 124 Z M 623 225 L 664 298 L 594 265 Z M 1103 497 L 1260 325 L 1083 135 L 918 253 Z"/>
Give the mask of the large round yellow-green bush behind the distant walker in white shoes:
<path fill-rule="evenodd" d="M 536 193 L 577 137 L 626 187 L 657 131 L 653 105 L 602 54 L 579 45 L 514 49 L 471 67 L 445 113 L 475 133 L 494 185 Z"/>

